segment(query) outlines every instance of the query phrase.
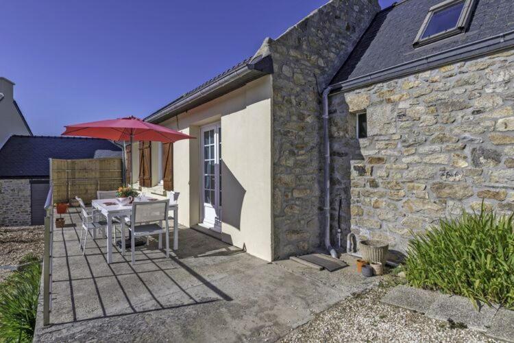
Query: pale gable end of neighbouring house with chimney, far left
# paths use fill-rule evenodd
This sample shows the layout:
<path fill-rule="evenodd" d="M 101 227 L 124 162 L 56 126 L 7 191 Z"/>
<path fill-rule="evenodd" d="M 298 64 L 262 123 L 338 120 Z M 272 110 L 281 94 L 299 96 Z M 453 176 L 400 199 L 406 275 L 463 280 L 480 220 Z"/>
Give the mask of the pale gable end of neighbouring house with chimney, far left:
<path fill-rule="evenodd" d="M 0 147 L 12 134 L 32 136 L 25 117 L 14 100 L 14 82 L 0 77 Z"/>

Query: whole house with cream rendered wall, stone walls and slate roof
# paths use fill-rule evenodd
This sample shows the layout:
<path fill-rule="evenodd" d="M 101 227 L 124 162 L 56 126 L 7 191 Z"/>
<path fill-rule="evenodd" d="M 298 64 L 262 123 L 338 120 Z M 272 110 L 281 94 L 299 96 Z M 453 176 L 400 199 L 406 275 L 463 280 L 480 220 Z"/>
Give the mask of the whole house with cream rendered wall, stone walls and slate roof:
<path fill-rule="evenodd" d="M 404 252 L 482 199 L 511 213 L 513 18 L 504 0 L 332 0 L 149 115 L 198 139 L 135 144 L 133 174 L 262 259 L 325 248 L 328 96 L 332 245 L 352 230 Z"/>

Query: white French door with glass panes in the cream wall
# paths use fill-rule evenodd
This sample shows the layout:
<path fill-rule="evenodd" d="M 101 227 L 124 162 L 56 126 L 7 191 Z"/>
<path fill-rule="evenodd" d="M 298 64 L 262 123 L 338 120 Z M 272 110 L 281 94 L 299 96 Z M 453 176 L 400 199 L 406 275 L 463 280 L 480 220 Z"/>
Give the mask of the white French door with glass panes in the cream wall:
<path fill-rule="evenodd" d="M 221 232 L 221 125 L 201 128 L 201 216 Z"/>

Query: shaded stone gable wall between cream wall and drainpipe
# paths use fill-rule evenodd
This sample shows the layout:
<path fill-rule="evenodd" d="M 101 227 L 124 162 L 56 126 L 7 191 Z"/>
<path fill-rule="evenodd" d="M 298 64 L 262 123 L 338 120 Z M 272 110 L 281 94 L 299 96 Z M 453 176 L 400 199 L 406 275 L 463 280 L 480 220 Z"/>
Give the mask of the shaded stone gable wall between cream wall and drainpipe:
<path fill-rule="evenodd" d="M 275 71 L 273 259 L 313 251 L 323 241 L 319 93 L 378 10 L 376 0 L 332 0 L 261 49 L 272 54 Z"/>

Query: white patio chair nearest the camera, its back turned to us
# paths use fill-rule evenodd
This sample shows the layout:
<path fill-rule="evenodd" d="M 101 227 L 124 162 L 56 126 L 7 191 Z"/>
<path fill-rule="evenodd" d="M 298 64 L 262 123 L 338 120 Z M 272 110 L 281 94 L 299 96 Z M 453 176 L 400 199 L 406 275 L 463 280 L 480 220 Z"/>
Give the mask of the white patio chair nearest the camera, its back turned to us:
<path fill-rule="evenodd" d="M 135 239 L 138 237 L 159 235 L 159 249 L 162 249 L 162 234 L 164 233 L 166 235 L 166 257 L 169 257 L 168 206 L 169 200 L 132 203 L 132 215 L 130 216 L 130 226 L 128 228 L 131 233 L 130 248 L 132 265 L 136 262 L 134 250 L 136 248 Z M 121 227 L 121 234 L 123 235 L 124 226 L 122 225 Z M 124 252 L 123 250 L 122 253 Z"/>

